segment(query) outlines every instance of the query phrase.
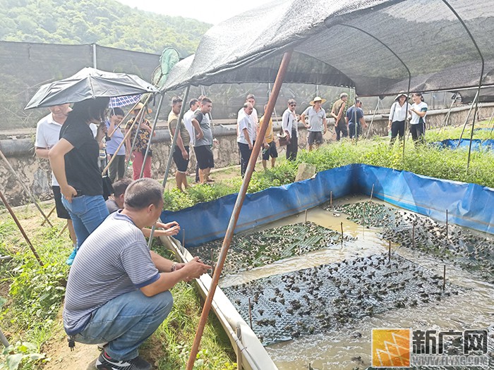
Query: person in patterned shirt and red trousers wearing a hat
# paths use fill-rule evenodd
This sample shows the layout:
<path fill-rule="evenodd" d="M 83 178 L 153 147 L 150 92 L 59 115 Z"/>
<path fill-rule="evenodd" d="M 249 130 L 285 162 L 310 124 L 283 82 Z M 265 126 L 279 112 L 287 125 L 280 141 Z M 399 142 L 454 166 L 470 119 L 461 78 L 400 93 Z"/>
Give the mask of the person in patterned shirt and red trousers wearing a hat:
<path fill-rule="evenodd" d="M 131 136 L 128 137 L 126 141 L 126 147 L 132 148 L 132 143 L 134 142 L 134 137 L 137 132 L 137 139 L 135 140 L 135 146 L 132 148 L 133 152 L 131 153 L 132 171 L 133 171 L 134 180 L 140 178 L 140 171 L 143 168 L 143 166 L 144 166 L 143 177 L 145 178 L 151 177 L 151 156 L 152 156 L 151 150 L 148 151 L 146 163 L 143 163 L 144 155 L 147 149 L 147 144 L 149 143 L 152 132 L 151 123 L 147 121 L 147 119 L 145 118 L 145 114 L 151 112 L 152 110 L 147 107 L 145 108 L 143 103 L 138 103 L 134 107 L 134 110 L 132 111 L 134 117 L 131 118 L 125 126 L 125 133 L 127 133 L 128 130 L 131 130 L 132 127 Z M 141 115 L 143 116 L 141 117 Z M 137 123 L 135 125 L 132 125 L 134 121 L 137 121 Z M 156 132 L 154 133 L 154 135 L 156 135 Z"/>

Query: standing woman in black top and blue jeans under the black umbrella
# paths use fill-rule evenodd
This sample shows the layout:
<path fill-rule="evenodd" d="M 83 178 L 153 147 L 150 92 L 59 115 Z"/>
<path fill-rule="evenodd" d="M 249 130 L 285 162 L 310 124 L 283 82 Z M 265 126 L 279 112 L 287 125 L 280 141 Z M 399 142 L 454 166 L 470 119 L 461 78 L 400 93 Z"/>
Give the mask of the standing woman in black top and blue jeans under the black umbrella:
<path fill-rule="evenodd" d="M 108 216 L 103 199 L 103 182 L 98 166 L 100 146 L 107 132 L 104 116 L 109 98 L 99 97 L 76 102 L 60 130 L 60 140 L 48 152 L 48 158 L 63 196 L 62 204 L 71 216 L 77 247 L 73 256 L 95 228 Z M 99 124 L 94 137 L 90 123 Z M 73 258 L 67 260 L 72 264 Z"/>

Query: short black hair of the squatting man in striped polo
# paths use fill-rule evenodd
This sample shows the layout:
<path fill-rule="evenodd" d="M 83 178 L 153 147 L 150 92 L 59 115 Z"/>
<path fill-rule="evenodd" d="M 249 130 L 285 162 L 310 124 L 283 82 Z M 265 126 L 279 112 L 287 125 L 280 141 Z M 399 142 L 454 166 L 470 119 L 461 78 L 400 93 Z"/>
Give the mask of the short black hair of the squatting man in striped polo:
<path fill-rule="evenodd" d="M 125 191 L 124 208 L 144 209 L 151 204 L 161 206 L 163 188 L 152 178 L 140 178 L 128 185 Z"/>

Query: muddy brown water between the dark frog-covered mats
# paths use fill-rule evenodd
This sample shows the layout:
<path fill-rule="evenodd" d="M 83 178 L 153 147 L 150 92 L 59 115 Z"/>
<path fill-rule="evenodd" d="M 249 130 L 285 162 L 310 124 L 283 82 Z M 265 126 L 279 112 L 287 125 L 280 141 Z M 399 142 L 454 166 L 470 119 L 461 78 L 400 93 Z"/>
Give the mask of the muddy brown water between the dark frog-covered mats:
<path fill-rule="evenodd" d="M 361 202 L 362 197 L 340 199 L 342 204 Z M 387 204 L 387 206 L 390 206 Z M 263 228 L 273 228 L 290 223 L 305 221 L 305 212 L 271 223 Z M 320 264 L 328 264 L 343 259 L 351 259 L 387 251 L 388 243 L 381 240 L 379 228 L 366 228 L 345 219 L 344 214 L 315 208 L 307 212 L 307 221 L 320 226 L 341 231 L 356 240 L 345 242 L 343 247 L 333 247 L 311 252 L 303 257 L 277 261 L 251 271 L 222 278 L 220 286 L 237 285 L 265 276 L 306 269 Z M 444 264 L 438 259 L 410 249 L 392 245 L 394 252 L 420 264 L 424 268 L 442 275 Z M 280 370 L 308 369 L 308 364 L 317 370 L 366 369 L 370 366 L 370 333 L 372 328 L 414 328 L 435 330 L 480 329 L 494 322 L 494 286 L 476 280 L 467 271 L 458 269 L 446 262 L 447 279 L 456 285 L 467 288 L 462 295 L 450 297 L 441 302 L 428 304 L 425 308 L 394 309 L 385 314 L 367 316 L 347 330 L 327 331 L 323 334 L 307 335 L 267 347 Z"/>

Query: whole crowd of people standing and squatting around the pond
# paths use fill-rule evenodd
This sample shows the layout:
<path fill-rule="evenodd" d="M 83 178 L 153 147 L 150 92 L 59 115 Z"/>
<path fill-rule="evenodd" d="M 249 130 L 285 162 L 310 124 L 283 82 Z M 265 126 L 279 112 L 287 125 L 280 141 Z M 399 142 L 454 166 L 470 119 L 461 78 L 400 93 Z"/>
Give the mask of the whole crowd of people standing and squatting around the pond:
<path fill-rule="evenodd" d="M 420 93 L 408 97 L 400 93 L 394 99 L 388 129 L 390 145 L 396 137 L 404 140 L 407 116 L 416 143 L 424 141 L 427 104 Z M 343 92 L 332 104 L 329 116 L 335 119 L 337 140 L 356 138 L 366 128 L 362 103 L 356 99 L 347 108 L 348 94 Z M 275 135 L 271 117 L 258 118 L 255 97 L 248 94 L 237 114 L 236 142 L 244 176 L 257 140 L 262 144 L 262 164 L 275 167 L 279 145 L 286 145 L 286 158 L 294 161 L 299 149 L 299 123 L 308 130 L 308 150 L 323 144 L 328 130 L 328 117 L 315 97 L 301 113 L 296 114 L 296 101 L 289 99 L 282 114 L 281 131 Z M 207 184 L 215 166 L 212 148 L 217 142 L 212 130 L 212 101 L 201 96 L 188 101 L 174 97 L 168 116 L 171 137 L 176 146 L 171 153 L 176 165 L 176 187 L 185 191 L 191 147 L 197 161 L 196 181 Z M 158 222 L 163 208 L 162 185 L 152 180 L 150 140 L 155 135 L 144 104 L 136 104 L 132 118 L 124 125 L 122 109 L 108 109 L 108 98 L 87 99 L 50 108 L 48 116 L 37 124 L 35 151 L 49 159 L 52 167 L 52 190 L 59 218 L 67 222 L 73 252 L 64 305 L 64 328 L 71 342 L 102 343 L 98 369 L 150 369 L 138 356 L 138 347 L 169 314 L 172 298 L 169 289 L 179 281 L 198 278 L 211 266 L 197 258 L 187 264 L 164 259 L 150 251 L 145 237 L 173 236 L 180 226 L 175 221 Z M 266 106 L 264 106 L 266 110 Z M 267 123 L 261 137 L 260 129 Z M 279 143 L 278 143 L 279 142 Z M 109 165 L 100 164 L 100 150 L 105 151 Z M 133 180 L 126 177 L 132 160 Z M 104 167 L 104 168 L 102 168 Z M 102 175 L 108 170 L 113 194 L 104 195 Z"/>

